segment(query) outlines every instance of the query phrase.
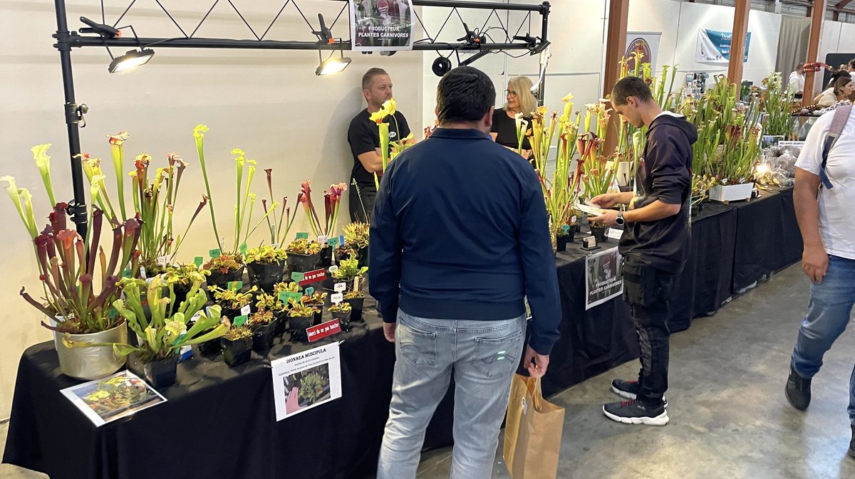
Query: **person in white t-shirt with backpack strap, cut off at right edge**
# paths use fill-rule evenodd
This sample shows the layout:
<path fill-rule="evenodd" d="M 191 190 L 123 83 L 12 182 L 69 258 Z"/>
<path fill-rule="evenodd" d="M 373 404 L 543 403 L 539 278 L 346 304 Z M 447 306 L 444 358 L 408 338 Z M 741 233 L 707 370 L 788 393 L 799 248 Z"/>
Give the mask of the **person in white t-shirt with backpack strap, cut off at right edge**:
<path fill-rule="evenodd" d="M 811 404 L 811 378 L 846 330 L 855 304 L 853 113 L 848 105 L 821 116 L 796 161 L 793 203 L 805 242 L 802 269 L 811 280 L 811 302 L 793 348 L 785 394 L 799 411 Z M 855 372 L 849 389 L 849 455 L 855 458 Z"/>

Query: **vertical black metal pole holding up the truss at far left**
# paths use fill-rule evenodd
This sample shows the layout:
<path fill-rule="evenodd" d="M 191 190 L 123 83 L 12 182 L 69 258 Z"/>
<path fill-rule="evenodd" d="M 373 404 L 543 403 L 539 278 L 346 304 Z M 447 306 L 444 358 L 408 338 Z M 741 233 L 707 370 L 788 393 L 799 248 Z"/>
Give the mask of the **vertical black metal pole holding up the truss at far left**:
<path fill-rule="evenodd" d="M 74 76 L 71 72 L 71 34 L 68 32 L 65 0 L 55 0 L 56 8 L 56 50 L 62 65 L 62 90 L 65 93 L 65 124 L 68 126 L 68 154 L 71 160 L 71 182 L 74 187 L 74 201 L 68 205 L 71 220 L 77 225 L 77 232 L 86 237 L 86 196 L 83 186 L 83 166 L 80 164 L 80 118 L 77 103 L 74 102 Z"/>

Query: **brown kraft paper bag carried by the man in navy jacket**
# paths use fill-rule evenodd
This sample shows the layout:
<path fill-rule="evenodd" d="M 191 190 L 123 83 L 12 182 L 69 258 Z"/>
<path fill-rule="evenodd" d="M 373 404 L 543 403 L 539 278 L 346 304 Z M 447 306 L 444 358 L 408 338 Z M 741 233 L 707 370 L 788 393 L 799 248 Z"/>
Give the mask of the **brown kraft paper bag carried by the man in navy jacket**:
<path fill-rule="evenodd" d="M 556 479 L 564 408 L 543 399 L 540 378 L 515 374 L 504 425 L 504 462 L 512 479 Z"/>

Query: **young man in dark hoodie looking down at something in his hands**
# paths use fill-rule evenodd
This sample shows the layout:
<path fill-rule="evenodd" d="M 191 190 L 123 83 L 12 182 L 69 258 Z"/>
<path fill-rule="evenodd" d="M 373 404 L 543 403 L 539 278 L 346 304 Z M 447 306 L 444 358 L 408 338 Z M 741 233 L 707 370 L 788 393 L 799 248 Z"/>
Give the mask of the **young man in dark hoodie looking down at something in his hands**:
<path fill-rule="evenodd" d="M 590 221 L 622 225 L 623 297 L 632 311 L 641 346 L 638 381 L 616 379 L 611 390 L 628 401 L 606 404 L 605 415 L 625 424 L 668 423 L 668 322 L 672 286 L 686 264 L 692 197 L 692 143 L 698 131 L 677 114 L 663 111 L 642 79 L 626 78 L 611 91 L 611 104 L 636 127 L 648 126 L 644 156 L 635 176 L 637 193 L 609 193 L 592 202 L 610 210 Z"/>

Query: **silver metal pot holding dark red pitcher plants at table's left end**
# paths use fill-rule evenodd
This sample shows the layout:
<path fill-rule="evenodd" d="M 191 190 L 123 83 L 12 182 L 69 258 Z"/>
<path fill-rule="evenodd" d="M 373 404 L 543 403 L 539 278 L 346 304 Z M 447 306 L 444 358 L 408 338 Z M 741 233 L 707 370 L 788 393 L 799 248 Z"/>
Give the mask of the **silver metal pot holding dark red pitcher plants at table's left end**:
<path fill-rule="evenodd" d="M 125 358 L 119 357 L 109 346 L 91 348 L 66 348 L 62 344 L 65 333 L 54 333 L 56 353 L 62 374 L 76 379 L 89 381 L 109 376 L 125 365 Z M 71 335 L 74 342 L 124 342 L 127 343 L 127 323 L 122 322 L 111 330 L 85 335 Z"/>

